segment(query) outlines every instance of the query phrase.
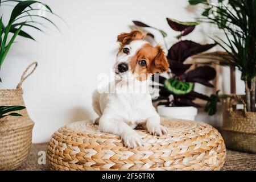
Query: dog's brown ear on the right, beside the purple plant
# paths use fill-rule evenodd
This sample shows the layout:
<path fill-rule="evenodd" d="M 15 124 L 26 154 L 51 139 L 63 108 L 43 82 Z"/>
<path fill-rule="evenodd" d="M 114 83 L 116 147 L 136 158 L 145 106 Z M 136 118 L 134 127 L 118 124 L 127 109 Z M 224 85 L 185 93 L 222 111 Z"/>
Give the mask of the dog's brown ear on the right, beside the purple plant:
<path fill-rule="evenodd" d="M 166 58 L 166 55 L 164 54 L 163 48 L 159 45 L 155 46 L 155 48 L 158 50 L 158 54 L 155 57 L 155 60 L 153 61 L 153 70 L 152 73 L 163 73 L 168 71 L 169 63 Z"/>

